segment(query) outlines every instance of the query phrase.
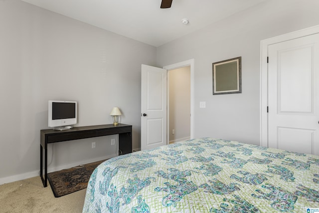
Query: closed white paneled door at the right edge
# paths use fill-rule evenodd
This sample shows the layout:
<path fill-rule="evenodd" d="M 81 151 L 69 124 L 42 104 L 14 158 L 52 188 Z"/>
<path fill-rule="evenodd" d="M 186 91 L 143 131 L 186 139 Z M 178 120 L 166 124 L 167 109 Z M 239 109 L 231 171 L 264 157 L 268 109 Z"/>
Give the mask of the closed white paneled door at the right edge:
<path fill-rule="evenodd" d="M 319 155 L 319 34 L 268 46 L 268 146 Z"/>

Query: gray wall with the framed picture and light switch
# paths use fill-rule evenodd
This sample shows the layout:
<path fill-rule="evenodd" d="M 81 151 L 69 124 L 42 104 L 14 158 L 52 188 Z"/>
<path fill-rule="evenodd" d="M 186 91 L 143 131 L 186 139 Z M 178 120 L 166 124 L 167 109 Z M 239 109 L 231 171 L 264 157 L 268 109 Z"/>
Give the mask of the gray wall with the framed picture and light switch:
<path fill-rule="evenodd" d="M 195 59 L 195 138 L 260 144 L 260 41 L 319 24 L 318 8 L 318 0 L 266 0 L 157 48 L 160 66 Z M 238 56 L 242 93 L 212 95 L 212 63 Z"/>

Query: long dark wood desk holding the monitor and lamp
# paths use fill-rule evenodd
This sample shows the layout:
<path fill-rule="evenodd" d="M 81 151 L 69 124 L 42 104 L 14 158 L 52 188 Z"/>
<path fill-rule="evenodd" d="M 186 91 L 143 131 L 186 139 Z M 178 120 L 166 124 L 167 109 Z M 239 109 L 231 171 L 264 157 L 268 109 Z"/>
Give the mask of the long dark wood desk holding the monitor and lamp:
<path fill-rule="evenodd" d="M 40 177 L 44 187 L 47 187 L 47 144 L 71 141 L 84 138 L 94 138 L 119 134 L 119 153 L 132 153 L 132 125 L 113 124 L 73 127 L 69 130 L 44 129 L 40 131 Z M 44 178 L 43 178 L 43 149 L 44 149 Z"/>

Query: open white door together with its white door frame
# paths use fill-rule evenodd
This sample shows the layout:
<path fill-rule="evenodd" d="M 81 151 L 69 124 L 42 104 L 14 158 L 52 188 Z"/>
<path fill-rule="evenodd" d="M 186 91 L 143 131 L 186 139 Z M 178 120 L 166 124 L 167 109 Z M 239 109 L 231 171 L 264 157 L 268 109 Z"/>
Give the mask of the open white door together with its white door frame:
<path fill-rule="evenodd" d="M 168 144 L 167 72 L 189 66 L 190 70 L 190 139 L 194 136 L 194 59 L 164 66 L 141 66 L 141 150 Z"/>

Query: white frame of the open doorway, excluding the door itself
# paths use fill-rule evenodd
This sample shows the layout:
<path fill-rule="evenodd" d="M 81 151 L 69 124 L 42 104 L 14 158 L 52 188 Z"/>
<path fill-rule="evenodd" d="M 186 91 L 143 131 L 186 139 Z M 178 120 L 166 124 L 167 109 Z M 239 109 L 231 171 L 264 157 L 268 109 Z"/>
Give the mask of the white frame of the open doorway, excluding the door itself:
<path fill-rule="evenodd" d="M 194 59 L 189 59 L 186 61 L 174 63 L 171 65 L 163 66 L 163 69 L 166 69 L 167 72 L 172 69 L 178 69 L 184 66 L 190 66 L 190 139 L 194 138 Z M 168 86 L 168 85 L 167 85 Z M 168 107 L 167 102 L 167 107 Z M 166 119 L 166 137 L 167 137 L 167 143 L 169 143 L 169 110 L 167 109 L 167 119 Z"/>

